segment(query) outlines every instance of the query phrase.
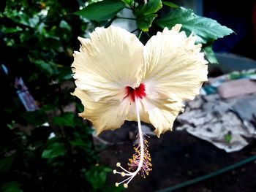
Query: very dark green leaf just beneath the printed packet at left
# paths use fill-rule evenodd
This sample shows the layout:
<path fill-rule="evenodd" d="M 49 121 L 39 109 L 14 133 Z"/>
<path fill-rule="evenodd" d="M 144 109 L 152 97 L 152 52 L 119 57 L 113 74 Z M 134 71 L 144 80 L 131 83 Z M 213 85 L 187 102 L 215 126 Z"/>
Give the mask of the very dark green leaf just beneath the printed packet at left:
<path fill-rule="evenodd" d="M 25 112 L 20 115 L 28 123 L 34 126 L 40 126 L 45 122 L 48 122 L 48 117 L 42 110 L 37 110 L 34 112 Z"/>

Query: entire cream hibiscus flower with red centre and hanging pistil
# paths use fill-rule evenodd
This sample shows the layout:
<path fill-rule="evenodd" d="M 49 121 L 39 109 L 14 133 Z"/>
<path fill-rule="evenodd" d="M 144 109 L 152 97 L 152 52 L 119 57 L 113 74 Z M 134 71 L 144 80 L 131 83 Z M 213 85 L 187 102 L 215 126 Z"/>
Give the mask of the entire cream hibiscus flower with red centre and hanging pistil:
<path fill-rule="evenodd" d="M 129 170 L 117 163 L 123 172 L 113 171 L 127 177 L 117 186 L 127 187 L 136 174 L 145 177 L 151 171 L 140 120 L 151 123 L 157 137 L 172 130 L 183 101 L 194 99 L 207 80 L 201 45 L 180 29 L 179 24 L 165 28 L 146 45 L 114 26 L 96 28 L 89 39 L 78 37 L 81 46 L 74 53 L 72 71 L 77 87 L 73 94 L 85 107 L 80 117 L 90 120 L 97 134 L 120 128 L 124 120 L 138 121 L 139 144 Z"/>

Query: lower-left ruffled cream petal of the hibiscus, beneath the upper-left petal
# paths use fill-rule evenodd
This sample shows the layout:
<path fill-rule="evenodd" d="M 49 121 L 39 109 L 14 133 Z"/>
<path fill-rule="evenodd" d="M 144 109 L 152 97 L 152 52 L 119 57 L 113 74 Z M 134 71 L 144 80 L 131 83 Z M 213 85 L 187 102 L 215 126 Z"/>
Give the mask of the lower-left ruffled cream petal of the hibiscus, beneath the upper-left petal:
<path fill-rule="evenodd" d="M 76 88 L 72 93 L 81 101 L 85 110 L 80 113 L 80 117 L 90 120 L 96 129 L 96 134 L 105 130 L 120 128 L 129 112 L 129 99 L 122 101 L 94 101 L 80 88 Z"/>

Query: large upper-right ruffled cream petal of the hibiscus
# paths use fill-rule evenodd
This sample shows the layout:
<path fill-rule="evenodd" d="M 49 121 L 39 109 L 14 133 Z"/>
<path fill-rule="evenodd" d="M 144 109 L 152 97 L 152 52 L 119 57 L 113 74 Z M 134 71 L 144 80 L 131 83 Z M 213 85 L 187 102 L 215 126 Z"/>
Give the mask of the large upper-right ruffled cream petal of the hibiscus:
<path fill-rule="evenodd" d="M 207 80 L 207 61 L 195 37 L 179 32 L 181 25 L 151 37 L 144 48 L 143 82 L 153 98 L 194 99 Z"/>

